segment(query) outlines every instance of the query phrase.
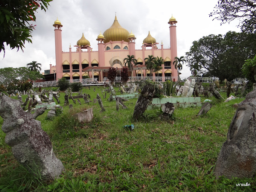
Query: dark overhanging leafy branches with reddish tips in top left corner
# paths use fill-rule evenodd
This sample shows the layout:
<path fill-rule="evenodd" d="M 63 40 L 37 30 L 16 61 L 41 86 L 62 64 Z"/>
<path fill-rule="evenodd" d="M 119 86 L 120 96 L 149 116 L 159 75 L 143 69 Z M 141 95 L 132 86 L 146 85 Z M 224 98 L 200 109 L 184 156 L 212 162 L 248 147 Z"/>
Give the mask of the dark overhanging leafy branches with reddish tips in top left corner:
<path fill-rule="evenodd" d="M 5 45 L 11 49 L 23 50 L 25 41 L 32 43 L 35 25 L 35 12 L 41 7 L 44 11 L 52 0 L 1 0 L 0 1 L 0 52 L 5 55 Z"/>

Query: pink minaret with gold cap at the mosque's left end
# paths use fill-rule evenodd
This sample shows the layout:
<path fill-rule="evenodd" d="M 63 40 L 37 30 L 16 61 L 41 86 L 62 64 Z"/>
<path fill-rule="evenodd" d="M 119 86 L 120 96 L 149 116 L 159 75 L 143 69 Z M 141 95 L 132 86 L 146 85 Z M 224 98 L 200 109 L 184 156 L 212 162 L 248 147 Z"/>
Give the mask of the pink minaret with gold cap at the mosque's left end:
<path fill-rule="evenodd" d="M 61 21 L 54 21 L 53 27 L 55 34 L 55 58 L 56 58 L 56 80 L 62 78 L 62 38 L 61 38 Z"/>

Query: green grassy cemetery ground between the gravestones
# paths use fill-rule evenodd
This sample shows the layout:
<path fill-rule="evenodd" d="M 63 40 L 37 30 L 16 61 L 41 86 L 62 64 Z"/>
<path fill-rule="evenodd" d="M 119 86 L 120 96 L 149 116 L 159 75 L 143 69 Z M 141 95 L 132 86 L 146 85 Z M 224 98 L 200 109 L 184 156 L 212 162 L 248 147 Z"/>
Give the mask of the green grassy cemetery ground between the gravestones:
<path fill-rule="evenodd" d="M 95 92 L 93 91 L 95 88 Z M 133 120 L 137 98 L 125 101 L 128 109 L 103 99 L 103 87 L 83 88 L 90 101 L 96 94 L 102 98 L 104 112 L 98 103 L 89 102 L 63 107 L 63 114 L 47 119 L 47 111 L 37 117 L 50 136 L 53 150 L 65 167 L 59 179 L 40 180 L 37 173 L 27 172 L 12 155 L 0 131 L 0 190 L 1 191 L 255 191 L 256 177 L 217 179 L 213 170 L 227 131 L 236 111 L 233 104 L 211 99 L 213 107 L 198 117 L 201 107 L 175 108 L 173 119 L 160 120 L 160 108 L 146 110 L 143 117 Z M 116 93 L 118 88 L 115 87 Z M 59 100 L 64 105 L 64 94 Z M 107 98 L 109 98 L 107 93 Z M 221 93 L 226 98 L 226 93 Z M 17 97 L 13 97 L 17 99 Z M 23 96 L 23 101 L 26 96 Z M 55 99 L 54 99 L 55 100 Z M 78 123 L 72 114 L 93 108 L 90 123 Z M 0 117 L 0 125 L 3 120 Z M 125 125 L 134 125 L 134 130 Z M 250 183 L 250 186 L 236 186 Z"/>

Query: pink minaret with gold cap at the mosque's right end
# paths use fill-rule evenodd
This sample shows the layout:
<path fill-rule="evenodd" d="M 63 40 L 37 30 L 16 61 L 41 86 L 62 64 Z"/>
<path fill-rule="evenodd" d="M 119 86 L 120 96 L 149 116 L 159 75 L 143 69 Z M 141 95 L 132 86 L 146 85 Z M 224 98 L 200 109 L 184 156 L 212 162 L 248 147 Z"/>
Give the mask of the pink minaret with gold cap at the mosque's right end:
<path fill-rule="evenodd" d="M 170 46 L 171 46 L 171 66 L 172 66 L 172 81 L 177 81 L 178 70 L 174 67 L 174 58 L 177 57 L 177 36 L 176 36 L 176 19 L 172 16 L 169 19 L 170 24 Z"/>

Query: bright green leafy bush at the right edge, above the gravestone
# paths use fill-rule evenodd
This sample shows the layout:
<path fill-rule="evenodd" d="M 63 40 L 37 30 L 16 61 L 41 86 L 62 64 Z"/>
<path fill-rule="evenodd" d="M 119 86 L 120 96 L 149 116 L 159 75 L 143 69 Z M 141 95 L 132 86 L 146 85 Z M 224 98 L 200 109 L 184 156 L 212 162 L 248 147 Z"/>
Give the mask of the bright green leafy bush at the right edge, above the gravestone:
<path fill-rule="evenodd" d="M 256 55 L 253 59 L 245 60 L 245 63 L 242 67 L 242 72 L 248 81 L 256 83 L 256 79 L 254 77 L 256 76 Z"/>

